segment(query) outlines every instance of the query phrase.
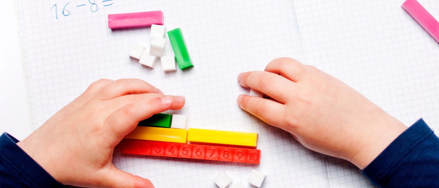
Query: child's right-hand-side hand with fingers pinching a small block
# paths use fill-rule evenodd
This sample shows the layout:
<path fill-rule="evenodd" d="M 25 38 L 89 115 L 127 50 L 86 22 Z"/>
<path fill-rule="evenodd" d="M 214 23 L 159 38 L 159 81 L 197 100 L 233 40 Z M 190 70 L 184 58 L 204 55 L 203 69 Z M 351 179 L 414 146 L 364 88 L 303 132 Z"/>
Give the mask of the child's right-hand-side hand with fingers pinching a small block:
<path fill-rule="evenodd" d="M 275 59 L 265 71 L 237 79 L 272 98 L 238 96 L 242 109 L 290 132 L 305 147 L 360 169 L 407 129 L 342 81 L 291 58 Z"/>

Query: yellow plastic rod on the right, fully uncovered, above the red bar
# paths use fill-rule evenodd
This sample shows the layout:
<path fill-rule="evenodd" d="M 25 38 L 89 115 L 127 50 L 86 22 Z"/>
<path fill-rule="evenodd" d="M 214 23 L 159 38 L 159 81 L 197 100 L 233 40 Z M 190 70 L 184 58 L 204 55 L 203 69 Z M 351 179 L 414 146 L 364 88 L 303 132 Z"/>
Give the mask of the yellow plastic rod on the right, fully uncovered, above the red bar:
<path fill-rule="evenodd" d="M 187 141 L 256 147 L 258 133 L 189 128 Z"/>

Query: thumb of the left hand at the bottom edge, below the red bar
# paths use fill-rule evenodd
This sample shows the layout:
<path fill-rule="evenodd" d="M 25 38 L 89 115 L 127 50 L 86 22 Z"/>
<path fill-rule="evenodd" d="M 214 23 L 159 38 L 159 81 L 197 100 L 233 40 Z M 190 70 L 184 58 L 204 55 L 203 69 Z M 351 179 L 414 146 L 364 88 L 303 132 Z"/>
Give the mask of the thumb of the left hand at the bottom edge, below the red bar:
<path fill-rule="evenodd" d="M 134 176 L 128 172 L 112 167 L 106 173 L 106 179 L 103 181 L 103 187 L 109 188 L 154 188 L 154 185 L 148 179 L 140 176 Z"/>

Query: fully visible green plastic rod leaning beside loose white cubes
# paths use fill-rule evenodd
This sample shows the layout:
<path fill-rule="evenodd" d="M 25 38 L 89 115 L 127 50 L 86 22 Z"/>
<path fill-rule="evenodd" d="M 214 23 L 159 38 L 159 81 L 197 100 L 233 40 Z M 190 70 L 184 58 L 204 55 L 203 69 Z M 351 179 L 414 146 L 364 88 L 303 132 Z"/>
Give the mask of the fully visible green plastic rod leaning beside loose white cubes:
<path fill-rule="evenodd" d="M 194 65 L 192 65 L 192 59 L 189 55 L 189 51 L 187 50 L 186 43 L 184 42 L 181 29 L 173 29 L 168 32 L 168 35 L 169 40 L 171 41 L 172 49 L 175 53 L 175 57 L 177 58 L 178 67 L 180 67 L 181 70 L 194 67 Z"/>

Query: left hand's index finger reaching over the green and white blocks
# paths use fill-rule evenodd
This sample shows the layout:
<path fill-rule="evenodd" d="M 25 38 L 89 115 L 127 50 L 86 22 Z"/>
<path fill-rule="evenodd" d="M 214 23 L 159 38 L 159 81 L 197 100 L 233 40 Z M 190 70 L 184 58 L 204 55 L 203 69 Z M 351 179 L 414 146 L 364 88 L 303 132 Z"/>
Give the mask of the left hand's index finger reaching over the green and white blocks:
<path fill-rule="evenodd" d="M 108 117 L 105 126 L 111 128 L 112 136 L 119 142 L 123 136 L 133 131 L 139 121 L 166 110 L 180 110 L 184 102 L 183 96 L 164 96 L 130 103 Z"/>

